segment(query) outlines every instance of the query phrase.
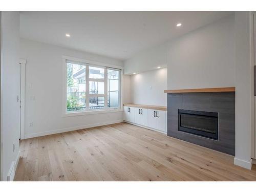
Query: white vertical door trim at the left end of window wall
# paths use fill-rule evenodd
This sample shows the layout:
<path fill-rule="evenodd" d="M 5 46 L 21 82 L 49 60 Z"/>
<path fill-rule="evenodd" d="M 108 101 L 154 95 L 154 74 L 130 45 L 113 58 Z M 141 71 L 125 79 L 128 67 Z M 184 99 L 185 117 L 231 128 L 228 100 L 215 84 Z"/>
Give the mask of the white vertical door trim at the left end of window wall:
<path fill-rule="evenodd" d="M 20 139 L 25 139 L 25 72 L 26 59 L 19 59 L 20 64 Z"/>

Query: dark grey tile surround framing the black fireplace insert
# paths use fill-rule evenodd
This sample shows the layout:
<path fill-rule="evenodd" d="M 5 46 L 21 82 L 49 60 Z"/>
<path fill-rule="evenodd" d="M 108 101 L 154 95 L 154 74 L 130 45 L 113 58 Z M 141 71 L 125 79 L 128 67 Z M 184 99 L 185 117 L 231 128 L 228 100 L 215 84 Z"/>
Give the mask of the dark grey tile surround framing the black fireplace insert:
<path fill-rule="evenodd" d="M 168 93 L 167 135 L 234 156 L 234 92 Z M 178 110 L 218 113 L 218 140 L 179 131 Z"/>

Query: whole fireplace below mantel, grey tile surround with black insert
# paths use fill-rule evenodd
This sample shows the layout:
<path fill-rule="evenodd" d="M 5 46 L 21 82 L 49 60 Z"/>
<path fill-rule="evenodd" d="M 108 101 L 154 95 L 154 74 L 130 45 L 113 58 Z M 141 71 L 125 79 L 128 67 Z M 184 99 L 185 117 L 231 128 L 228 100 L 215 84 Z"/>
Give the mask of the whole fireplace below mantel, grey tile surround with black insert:
<path fill-rule="evenodd" d="M 168 93 L 167 135 L 234 156 L 234 98 L 231 90 Z"/>

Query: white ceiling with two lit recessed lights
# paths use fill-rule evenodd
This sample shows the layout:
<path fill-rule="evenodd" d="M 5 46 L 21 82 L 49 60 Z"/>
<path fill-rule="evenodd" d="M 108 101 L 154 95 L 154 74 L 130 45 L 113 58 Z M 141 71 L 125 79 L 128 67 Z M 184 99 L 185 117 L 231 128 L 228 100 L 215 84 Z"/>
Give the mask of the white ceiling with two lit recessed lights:
<path fill-rule="evenodd" d="M 232 12 L 20 12 L 20 36 L 125 60 L 229 14 Z M 177 23 L 182 27 L 177 28 Z"/>

